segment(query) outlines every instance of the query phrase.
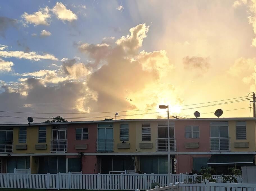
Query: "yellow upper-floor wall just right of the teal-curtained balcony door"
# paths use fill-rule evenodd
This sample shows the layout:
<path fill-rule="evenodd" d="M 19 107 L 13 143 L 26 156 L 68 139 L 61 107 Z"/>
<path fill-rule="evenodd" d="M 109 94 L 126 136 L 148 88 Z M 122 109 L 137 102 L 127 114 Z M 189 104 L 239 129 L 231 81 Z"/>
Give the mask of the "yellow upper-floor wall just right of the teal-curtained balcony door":
<path fill-rule="evenodd" d="M 119 149 L 117 148 L 117 144 L 121 143 L 120 141 L 120 124 L 129 124 L 129 141 L 126 143 L 130 143 L 130 148 Z M 114 123 L 113 127 L 114 131 L 114 152 L 136 152 L 136 137 L 135 137 L 135 122 L 125 122 L 125 123 Z"/>

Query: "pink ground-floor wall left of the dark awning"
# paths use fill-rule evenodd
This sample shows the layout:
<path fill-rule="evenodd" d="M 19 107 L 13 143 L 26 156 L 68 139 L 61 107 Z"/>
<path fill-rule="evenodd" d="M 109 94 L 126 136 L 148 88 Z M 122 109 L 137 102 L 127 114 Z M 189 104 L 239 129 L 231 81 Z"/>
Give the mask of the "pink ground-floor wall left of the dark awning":
<path fill-rule="evenodd" d="M 193 169 L 193 157 L 209 157 L 210 155 L 176 155 L 176 174 L 191 173 Z"/>

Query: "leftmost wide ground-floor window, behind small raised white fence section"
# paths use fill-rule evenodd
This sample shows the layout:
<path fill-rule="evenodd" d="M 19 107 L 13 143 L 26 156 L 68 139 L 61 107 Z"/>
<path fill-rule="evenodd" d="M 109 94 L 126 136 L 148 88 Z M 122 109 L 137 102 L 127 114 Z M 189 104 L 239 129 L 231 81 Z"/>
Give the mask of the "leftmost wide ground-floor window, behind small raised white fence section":
<path fill-rule="evenodd" d="M 14 173 L 14 169 L 29 169 L 30 156 L 7 157 L 7 173 Z"/>

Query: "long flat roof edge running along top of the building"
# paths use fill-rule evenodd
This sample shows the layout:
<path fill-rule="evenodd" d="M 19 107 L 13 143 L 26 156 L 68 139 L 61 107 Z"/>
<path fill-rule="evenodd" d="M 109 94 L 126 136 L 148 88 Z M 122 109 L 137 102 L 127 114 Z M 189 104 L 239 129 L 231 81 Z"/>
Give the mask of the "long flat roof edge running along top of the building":
<path fill-rule="evenodd" d="M 182 118 L 169 119 L 170 121 L 256 121 L 254 117 L 222 117 L 222 118 Z M 127 121 L 167 121 L 167 119 L 118 119 L 118 120 L 100 120 L 100 121 L 67 121 L 54 123 L 30 123 L 29 124 L 0 124 L 1 126 L 45 126 L 45 125 L 68 125 L 68 124 L 83 124 L 83 123 L 110 123 L 110 122 L 127 122 Z"/>

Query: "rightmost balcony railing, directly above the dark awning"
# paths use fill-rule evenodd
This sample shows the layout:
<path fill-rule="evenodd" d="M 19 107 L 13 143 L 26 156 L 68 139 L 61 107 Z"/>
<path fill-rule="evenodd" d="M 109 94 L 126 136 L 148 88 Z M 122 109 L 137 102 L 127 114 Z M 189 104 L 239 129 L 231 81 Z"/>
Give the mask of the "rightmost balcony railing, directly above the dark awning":
<path fill-rule="evenodd" d="M 230 151 L 230 137 L 211 137 L 211 151 Z"/>

